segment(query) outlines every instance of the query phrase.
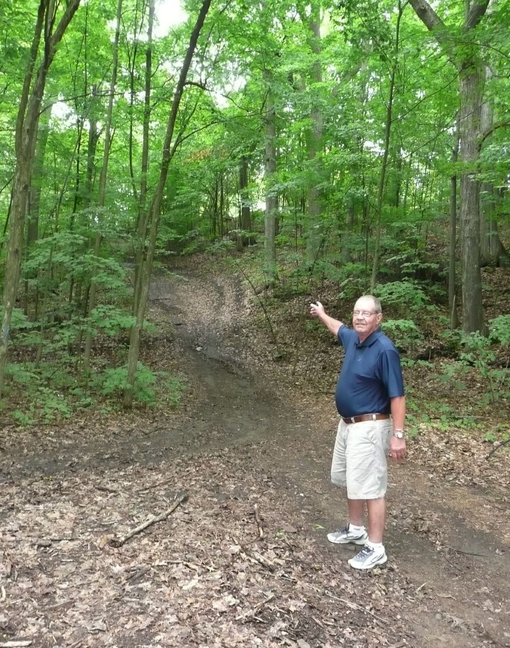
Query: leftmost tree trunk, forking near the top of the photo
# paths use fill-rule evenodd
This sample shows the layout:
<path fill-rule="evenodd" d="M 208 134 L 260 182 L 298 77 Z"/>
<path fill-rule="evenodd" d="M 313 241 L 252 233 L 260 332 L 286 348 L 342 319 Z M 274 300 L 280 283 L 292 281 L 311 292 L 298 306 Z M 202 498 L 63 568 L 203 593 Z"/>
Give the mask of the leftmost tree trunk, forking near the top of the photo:
<path fill-rule="evenodd" d="M 16 150 L 16 169 L 14 171 L 12 212 L 10 218 L 9 244 L 5 266 L 3 292 L 3 321 L 0 333 L 0 393 L 3 391 L 5 364 L 7 360 L 7 345 L 12 320 L 12 310 L 16 303 L 19 273 L 21 271 L 21 255 L 23 251 L 23 229 L 27 211 L 27 196 L 34 161 L 34 149 L 40 118 L 41 100 L 48 70 L 54 59 L 58 43 L 62 40 L 67 26 L 80 5 L 80 0 L 70 0 L 65 8 L 56 29 L 54 27 L 53 8 L 51 0 L 40 0 L 38 17 L 34 30 L 34 38 L 30 47 L 29 64 L 23 90 L 19 100 L 16 119 L 16 135 L 14 138 Z M 33 73 L 38 58 L 41 34 L 44 27 L 44 48 L 41 63 L 34 80 Z"/>

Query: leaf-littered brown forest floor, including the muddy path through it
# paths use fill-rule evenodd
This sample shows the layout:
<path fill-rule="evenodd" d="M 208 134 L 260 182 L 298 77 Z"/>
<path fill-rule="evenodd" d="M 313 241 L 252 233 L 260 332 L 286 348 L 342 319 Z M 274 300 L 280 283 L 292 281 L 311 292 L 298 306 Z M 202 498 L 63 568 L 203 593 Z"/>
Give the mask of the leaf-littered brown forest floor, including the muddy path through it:
<path fill-rule="evenodd" d="M 388 563 L 352 570 L 325 537 L 347 521 L 340 349 L 303 340 L 293 374 L 256 308 L 183 264 L 154 281 L 143 348 L 185 381 L 178 410 L 3 430 L 0 646 L 510 646 L 508 446 L 487 457 L 484 417 L 423 424 L 390 467 Z"/>

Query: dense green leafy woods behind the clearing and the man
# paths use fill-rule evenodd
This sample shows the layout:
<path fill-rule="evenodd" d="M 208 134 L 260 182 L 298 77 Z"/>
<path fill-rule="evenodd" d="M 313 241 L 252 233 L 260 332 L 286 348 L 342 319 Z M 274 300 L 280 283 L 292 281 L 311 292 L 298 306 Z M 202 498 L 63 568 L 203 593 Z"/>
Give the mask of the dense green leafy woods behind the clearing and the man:
<path fill-rule="evenodd" d="M 189 0 L 165 27 L 175 6 L 1 3 L 0 389 L 36 381 L 60 414 L 55 385 L 149 399 L 155 264 L 248 249 L 257 294 L 371 290 L 404 349 L 446 315 L 489 372 L 508 341 L 481 269 L 507 264 L 510 3 Z"/>

